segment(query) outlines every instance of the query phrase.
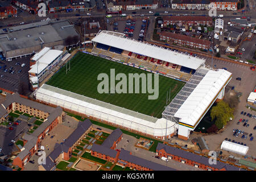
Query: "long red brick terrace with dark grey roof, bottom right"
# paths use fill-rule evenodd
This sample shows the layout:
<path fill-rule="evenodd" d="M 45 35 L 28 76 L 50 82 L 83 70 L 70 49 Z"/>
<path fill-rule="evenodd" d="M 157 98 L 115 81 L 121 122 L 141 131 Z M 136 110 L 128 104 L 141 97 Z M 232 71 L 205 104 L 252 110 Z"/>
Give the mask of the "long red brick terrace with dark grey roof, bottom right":
<path fill-rule="evenodd" d="M 158 143 L 156 147 L 156 155 L 168 159 L 176 160 L 177 162 L 185 163 L 190 166 L 201 168 L 207 171 L 240 171 L 243 170 L 239 167 L 230 164 L 216 161 L 216 164 L 210 164 L 209 158 L 179 148 L 167 146 L 163 143 Z"/>

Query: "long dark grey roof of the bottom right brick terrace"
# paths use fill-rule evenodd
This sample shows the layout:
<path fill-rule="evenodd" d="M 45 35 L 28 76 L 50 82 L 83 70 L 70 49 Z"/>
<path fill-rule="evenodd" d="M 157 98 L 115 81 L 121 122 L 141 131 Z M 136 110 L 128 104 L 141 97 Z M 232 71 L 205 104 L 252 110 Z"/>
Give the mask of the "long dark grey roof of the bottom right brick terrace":
<path fill-rule="evenodd" d="M 193 154 L 191 152 L 180 150 L 179 148 L 167 146 L 166 144 L 163 144 L 163 143 L 158 143 L 158 146 L 156 147 L 156 150 L 159 151 L 162 148 L 164 149 L 164 151 L 167 152 L 167 154 L 179 156 L 183 159 L 188 159 L 188 160 L 200 163 L 200 164 L 204 164 L 204 165 L 209 166 L 209 167 L 213 167 L 213 168 L 217 168 L 217 169 L 225 168 L 226 170 L 229 170 L 229 171 L 240 171 L 240 170 L 242 170 L 241 168 L 234 167 L 232 165 L 225 164 L 225 163 L 222 163 L 222 162 L 219 162 L 219 161 L 217 161 L 217 164 L 209 164 L 209 158 L 206 158 L 205 156 L 200 156 L 200 155 L 197 155 L 197 154 Z"/>

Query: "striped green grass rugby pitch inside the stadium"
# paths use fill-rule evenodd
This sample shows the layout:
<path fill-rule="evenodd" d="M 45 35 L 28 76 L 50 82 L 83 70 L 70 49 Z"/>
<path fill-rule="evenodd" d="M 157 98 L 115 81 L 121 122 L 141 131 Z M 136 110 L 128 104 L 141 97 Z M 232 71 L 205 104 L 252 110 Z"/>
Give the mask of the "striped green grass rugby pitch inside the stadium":
<path fill-rule="evenodd" d="M 162 112 L 164 106 L 166 106 L 167 91 L 171 88 L 171 101 L 185 84 L 184 82 L 160 75 L 159 97 L 157 100 L 148 100 L 148 95 L 152 94 L 141 92 L 137 94 L 100 94 L 97 92 L 97 86 L 101 82 L 101 80 L 97 80 L 100 73 L 106 73 L 110 78 L 110 69 L 112 68 L 115 69 L 115 75 L 118 73 L 125 73 L 128 75 L 128 73 L 141 74 L 148 72 L 82 52 L 77 53 L 77 55 L 73 57 L 70 65 L 71 71 L 68 71 L 67 75 L 66 68 L 63 67 L 59 72 L 53 75 L 46 84 L 77 94 L 82 94 L 86 97 L 108 102 L 113 105 L 125 107 L 126 109 L 138 111 L 139 113 L 156 118 L 162 118 Z M 116 81 L 116 84 L 117 82 L 119 81 Z M 154 79 L 152 82 L 154 83 Z M 168 104 L 169 103 L 170 102 L 168 102 Z"/>

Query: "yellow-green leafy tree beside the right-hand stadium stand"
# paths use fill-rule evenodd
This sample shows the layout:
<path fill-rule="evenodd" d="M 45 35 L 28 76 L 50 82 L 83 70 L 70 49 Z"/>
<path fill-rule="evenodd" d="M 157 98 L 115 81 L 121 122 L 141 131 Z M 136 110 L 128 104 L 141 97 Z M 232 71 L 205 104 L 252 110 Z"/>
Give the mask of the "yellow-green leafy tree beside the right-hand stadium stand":
<path fill-rule="evenodd" d="M 233 109 L 229 107 L 229 105 L 224 102 L 220 101 L 216 106 L 212 107 L 210 111 L 210 117 L 212 121 L 215 119 L 215 125 L 218 129 L 221 129 L 226 123 L 233 118 Z"/>

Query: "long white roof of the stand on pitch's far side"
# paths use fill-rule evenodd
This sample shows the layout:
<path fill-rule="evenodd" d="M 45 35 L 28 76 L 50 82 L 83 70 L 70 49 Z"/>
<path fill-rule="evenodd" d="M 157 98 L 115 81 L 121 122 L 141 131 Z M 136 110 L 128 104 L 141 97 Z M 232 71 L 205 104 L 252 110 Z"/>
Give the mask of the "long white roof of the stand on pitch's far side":
<path fill-rule="evenodd" d="M 116 32 L 111 31 L 100 31 L 92 39 L 92 42 L 139 53 L 141 55 L 153 57 L 154 59 L 167 61 L 169 63 L 181 65 L 191 69 L 197 69 L 205 63 L 204 59 L 177 53 L 175 51 L 170 51 L 170 49 L 164 49 L 151 44 L 138 42 L 137 40 L 124 38 L 124 35 L 125 34 L 116 34 Z"/>

